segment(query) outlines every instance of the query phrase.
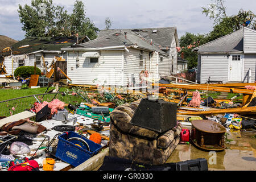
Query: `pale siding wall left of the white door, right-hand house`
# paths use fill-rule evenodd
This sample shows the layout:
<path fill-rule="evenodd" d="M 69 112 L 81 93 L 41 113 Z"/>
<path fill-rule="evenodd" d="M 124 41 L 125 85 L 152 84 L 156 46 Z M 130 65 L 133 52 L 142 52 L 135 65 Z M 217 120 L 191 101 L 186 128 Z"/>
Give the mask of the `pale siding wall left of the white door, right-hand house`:
<path fill-rule="evenodd" d="M 228 82 L 228 55 L 202 54 L 201 55 L 201 84 L 210 80 Z"/>

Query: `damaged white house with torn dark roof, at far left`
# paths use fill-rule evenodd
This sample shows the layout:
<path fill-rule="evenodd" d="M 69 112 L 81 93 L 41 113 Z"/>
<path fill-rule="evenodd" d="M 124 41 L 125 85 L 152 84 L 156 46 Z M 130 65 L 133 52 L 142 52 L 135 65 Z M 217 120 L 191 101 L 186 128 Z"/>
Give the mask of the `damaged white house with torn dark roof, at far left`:
<path fill-rule="evenodd" d="M 79 43 L 89 40 L 87 36 L 84 36 L 79 39 Z M 76 43 L 77 37 L 27 37 L 3 52 L 6 71 L 13 74 L 16 68 L 34 66 L 34 62 L 36 62 L 36 67 L 44 72 L 43 59 L 48 64 L 52 63 L 55 56 L 67 60 L 67 52 L 61 51 L 61 48 Z"/>

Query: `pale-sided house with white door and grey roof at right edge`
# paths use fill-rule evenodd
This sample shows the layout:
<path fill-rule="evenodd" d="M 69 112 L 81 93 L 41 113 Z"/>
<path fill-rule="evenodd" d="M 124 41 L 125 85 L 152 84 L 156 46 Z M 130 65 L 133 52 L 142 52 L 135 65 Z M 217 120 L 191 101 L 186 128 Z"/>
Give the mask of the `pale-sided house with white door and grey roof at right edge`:
<path fill-rule="evenodd" d="M 197 82 L 254 82 L 256 30 L 243 27 L 232 34 L 196 47 Z"/>

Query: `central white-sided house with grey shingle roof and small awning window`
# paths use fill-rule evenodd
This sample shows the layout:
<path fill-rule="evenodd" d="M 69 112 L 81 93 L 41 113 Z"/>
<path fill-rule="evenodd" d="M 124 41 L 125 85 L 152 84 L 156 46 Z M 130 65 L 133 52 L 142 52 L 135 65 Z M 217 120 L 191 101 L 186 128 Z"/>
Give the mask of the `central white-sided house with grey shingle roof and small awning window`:
<path fill-rule="evenodd" d="M 139 73 L 151 77 L 177 73 L 176 27 L 101 30 L 98 38 L 61 48 L 68 51 L 72 84 L 139 85 Z"/>

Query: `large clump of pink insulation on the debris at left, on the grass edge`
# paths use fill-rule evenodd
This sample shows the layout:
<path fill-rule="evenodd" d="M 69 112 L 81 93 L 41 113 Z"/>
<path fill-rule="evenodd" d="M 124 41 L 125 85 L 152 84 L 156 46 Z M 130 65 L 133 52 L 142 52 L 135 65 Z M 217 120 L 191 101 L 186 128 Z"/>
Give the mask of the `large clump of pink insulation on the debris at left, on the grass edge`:
<path fill-rule="evenodd" d="M 36 113 L 38 113 L 44 106 L 48 104 L 48 107 L 51 109 L 51 114 L 56 114 L 58 110 L 63 110 L 65 103 L 61 102 L 58 99 L 55 99 L 51 102 L 44 101 L 42 104 L 38 104 L 35 106 Z"/>

